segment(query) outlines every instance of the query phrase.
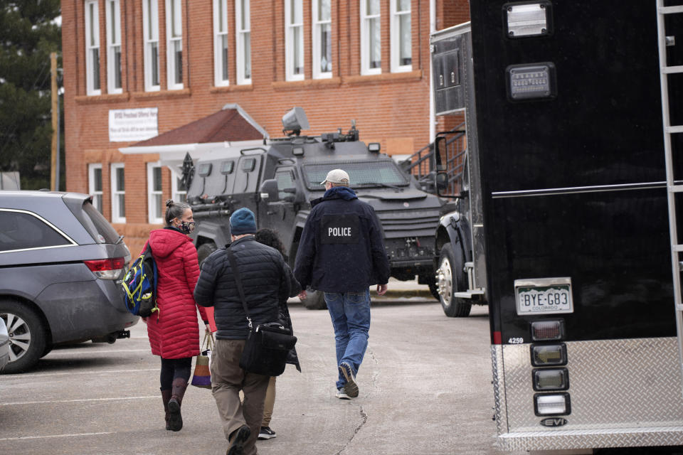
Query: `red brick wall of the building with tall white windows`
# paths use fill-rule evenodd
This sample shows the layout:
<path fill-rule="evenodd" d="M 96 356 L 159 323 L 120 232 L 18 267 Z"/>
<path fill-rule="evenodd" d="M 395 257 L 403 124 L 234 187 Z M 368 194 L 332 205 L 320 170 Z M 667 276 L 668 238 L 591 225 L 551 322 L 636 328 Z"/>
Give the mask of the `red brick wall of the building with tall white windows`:
<path fill-rule="evenodd" d="M 283 0 L 251 0 L 252 84 L 236 85 L 235 2 L 228 0 L 228 52 L 231 85 L 213 86 L 213 2 L 183 0 L 184 90 L 166 90 L 165 1 L 159 0 L 159 92 L 144 92 L 142 1 L 120 0 L 123 93 L 107 94 L 105 0 L 100 0 L 100 85 L 102 95 L 85 89 L 85 21 L 83 0 L 62 1 L 65 83 L 65 154 L 68 191 L 88 192 L 88 164 L 102 163 L 103 208 L 111 215 L 110 163 L 125 163 L 126 235 L 134 254 L 142 247 L 147 224 L 146 163 L 157 155 L 123 155 L 131 144 L 109 141 L 110 109 L 157 107 L 159 133 L 169 131 L 237 103 L 268 131 L 281 135 L 282 114 L 293 106 L 305 109 L 311 129 L 319 134 L 344 130 L 356 119 L 361 140 L 379 141 L 388 154 L 406 154 L 430 142 L 429 137 L 429 1 L 413 0 L 411 23 L 413 71 L 391 73 L 389 1 L 382 0 L 382 74 L 360 75 L 360 11 L 358 0 L 332 0 L 332 79 L 312 79 L 311 5 L 304 1 L 305 80 L 285 81 Z M 466 0 L 437 1 L 438 28 L 467 20 Z M 452 120 L 441 120 L 450 124 Z M 164 172 L 164 200 L 170 173 Z"/>

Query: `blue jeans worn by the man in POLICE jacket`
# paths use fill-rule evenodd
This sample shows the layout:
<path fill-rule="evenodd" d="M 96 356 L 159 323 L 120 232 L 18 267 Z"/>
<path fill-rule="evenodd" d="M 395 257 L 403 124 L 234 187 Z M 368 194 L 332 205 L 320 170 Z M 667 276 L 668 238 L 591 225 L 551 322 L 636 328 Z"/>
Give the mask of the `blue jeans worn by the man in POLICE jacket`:
<path fill-rule="evenodd" d="M 337 365 L 348 363 L 356 375 L 368 347 L 370 291 L 325 292 L 325 302 L 334 327 Z M 340 372 L 337 389 L 344 387 L 344 384 L 346 379 Z"/>

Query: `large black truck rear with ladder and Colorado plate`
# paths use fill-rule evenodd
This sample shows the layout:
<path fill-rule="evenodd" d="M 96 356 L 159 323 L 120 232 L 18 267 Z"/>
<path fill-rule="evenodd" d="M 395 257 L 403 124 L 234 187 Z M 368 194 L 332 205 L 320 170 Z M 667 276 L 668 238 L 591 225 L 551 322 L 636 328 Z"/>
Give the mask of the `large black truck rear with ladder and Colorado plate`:
<path fill-rule="evenodd" d="M 683 444 L 674 3 L 470 0 L 433 37 L 471 43 L 436 105 L 473 108 L 502 449 Z"/>

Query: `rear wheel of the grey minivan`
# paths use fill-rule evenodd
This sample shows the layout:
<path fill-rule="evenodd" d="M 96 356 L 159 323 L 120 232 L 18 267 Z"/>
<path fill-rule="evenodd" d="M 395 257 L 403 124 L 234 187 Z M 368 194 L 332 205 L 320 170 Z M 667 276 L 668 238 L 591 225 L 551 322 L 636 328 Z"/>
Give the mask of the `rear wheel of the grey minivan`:
<path fill-rule="evenodd" d="M 45 350 L 43 321 L 36 311 L 14 300 L 0 300 L 0 318 L 9 333 L 9 363 L 3 373 L 30 370 Z"/>

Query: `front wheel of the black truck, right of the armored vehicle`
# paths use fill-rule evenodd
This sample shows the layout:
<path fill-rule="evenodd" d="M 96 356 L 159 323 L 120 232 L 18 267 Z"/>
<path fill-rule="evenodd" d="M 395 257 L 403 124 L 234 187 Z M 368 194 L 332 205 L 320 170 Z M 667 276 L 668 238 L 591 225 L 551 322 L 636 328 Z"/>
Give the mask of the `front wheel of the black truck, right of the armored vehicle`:
<path fill-rule="evenodd" d="M 467 299 L 453 296 L 453 292 L 467 291 L 467 277 L 465 277 L 465 258 L 460 248 L 453 251 L 450 243 L 441 247 L 439 268 L 436 270 L 439 300 L 446 316 L 462 318 L 470 316 L 472 304 Z"/>

